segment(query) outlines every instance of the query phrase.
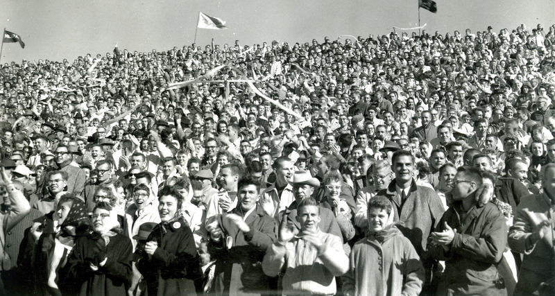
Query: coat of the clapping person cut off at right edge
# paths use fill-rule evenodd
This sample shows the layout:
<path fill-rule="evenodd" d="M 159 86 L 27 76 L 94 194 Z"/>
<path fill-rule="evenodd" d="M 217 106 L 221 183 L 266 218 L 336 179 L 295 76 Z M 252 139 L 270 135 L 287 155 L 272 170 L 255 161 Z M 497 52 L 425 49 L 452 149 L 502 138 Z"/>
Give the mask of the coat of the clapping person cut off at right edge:
<path fill-rule="evenodd" d="M 514 295 L 537 295 L 541 283 L 551 281 L 555 284 L 555 209 L 544 192 L 524 196 L 514 215 L 509 230 L 509 247 L 513 252 L 524 254 Z M 544 221 L 551 225 L 551 231 L 542 239 L 533 241 L 531 234 Z"/>

